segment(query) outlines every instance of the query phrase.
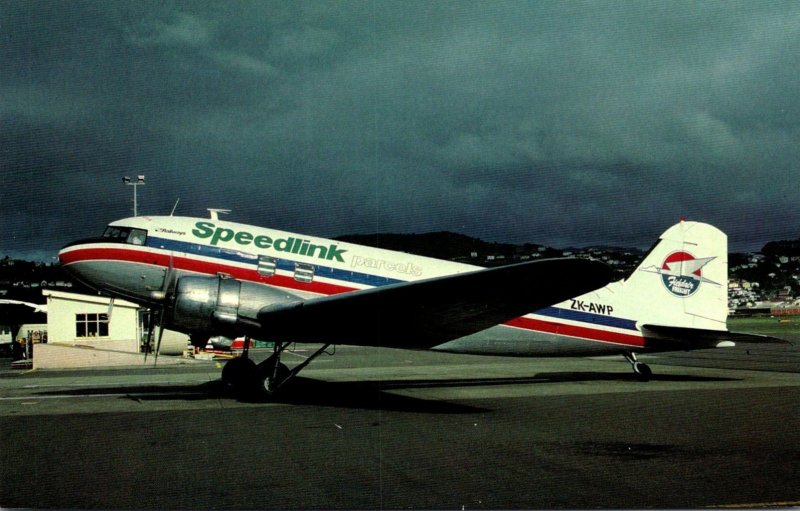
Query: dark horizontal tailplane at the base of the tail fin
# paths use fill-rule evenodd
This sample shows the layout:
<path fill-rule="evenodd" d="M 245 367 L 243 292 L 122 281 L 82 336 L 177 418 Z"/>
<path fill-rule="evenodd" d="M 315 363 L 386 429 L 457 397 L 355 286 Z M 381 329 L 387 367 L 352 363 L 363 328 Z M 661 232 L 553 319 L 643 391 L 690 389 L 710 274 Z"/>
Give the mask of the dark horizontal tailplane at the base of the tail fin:
<path fill-rule="evenodd" d="M 769 335 L 662 325 L 643 325 L 642 333 L 647 339 L 648 347 L 667 348 L 671 346 L 676 350 L 716 348 L 724 346 L 723 343 L 791 344 L 789 341 Z"/>

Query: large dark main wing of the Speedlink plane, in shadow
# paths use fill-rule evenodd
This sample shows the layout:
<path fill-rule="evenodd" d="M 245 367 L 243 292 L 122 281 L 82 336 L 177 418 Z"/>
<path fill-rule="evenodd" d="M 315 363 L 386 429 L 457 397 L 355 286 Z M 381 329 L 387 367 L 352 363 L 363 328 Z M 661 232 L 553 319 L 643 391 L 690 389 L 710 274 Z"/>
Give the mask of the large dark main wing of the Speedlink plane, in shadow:
<path fill-rule="evenodd" d="M 604 263 L 549 259 L 262 308 L 266 339 L 427 348 L 611 280 Z"/>

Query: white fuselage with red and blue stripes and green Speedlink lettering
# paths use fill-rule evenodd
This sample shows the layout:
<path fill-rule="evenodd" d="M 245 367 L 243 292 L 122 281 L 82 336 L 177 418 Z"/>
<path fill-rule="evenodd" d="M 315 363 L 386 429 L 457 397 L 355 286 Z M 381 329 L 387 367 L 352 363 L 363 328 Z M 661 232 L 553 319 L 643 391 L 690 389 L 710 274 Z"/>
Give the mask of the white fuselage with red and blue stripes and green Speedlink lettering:
<path fill-rule="evenodd" d="M 224 274 L 304 298 L 470 272 L 478 267 L 218 219 L 135 217 L 59 257 L 90 286 L 139 303 L 163 297 L 168 276 Z M 633 311 L 614 302 L 622 282 L 531 311 L 434 349 L 517 356 L 641 349 Z M 531 292 L 536 292 L 532 289 Z"/>

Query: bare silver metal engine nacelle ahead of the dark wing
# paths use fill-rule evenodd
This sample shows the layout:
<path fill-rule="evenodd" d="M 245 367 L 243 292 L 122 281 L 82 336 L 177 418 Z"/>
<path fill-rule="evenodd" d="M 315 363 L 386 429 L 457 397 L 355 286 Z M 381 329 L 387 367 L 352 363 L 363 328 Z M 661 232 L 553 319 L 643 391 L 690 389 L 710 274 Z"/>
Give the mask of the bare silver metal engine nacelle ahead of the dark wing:
<path fill-rule="evenodd" d="M 284 290 L 226 277 L 181 277 L 170 307 L 171 328 L 187 333 L 236 336 L 259 327 L 267 305 L 301 302 Z"/>

